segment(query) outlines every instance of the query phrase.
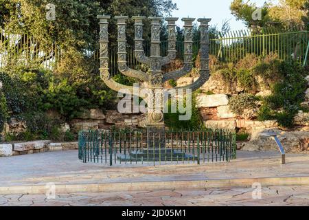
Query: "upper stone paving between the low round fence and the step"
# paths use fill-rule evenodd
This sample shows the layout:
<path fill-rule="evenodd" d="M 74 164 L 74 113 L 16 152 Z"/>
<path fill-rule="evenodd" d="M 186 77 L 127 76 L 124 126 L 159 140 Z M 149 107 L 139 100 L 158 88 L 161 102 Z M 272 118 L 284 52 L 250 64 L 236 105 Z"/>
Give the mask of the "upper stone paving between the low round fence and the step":
<path fill-rule="evenodd" d="M 91 184 L 130 181 L 174 181 L 309 175 L 309 155 L 287 154 L 280 164 L 278 152 L 238 151 L 238 159 L 206 164 L 83 164 L 78 151 L 0 157 L 0 186 Z"/>

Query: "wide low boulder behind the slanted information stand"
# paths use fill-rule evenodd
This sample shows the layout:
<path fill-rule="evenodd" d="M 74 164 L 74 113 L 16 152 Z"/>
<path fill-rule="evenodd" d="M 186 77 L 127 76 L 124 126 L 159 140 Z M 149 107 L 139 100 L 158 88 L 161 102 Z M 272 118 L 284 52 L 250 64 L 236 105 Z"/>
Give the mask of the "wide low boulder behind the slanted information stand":
<path fill-rule="evenodd" d="M 295 153 L 308 150 L 309 131 L 282 131 L 279 129 L 260 129 L 255 131 L 249 142 L 242 146 L 243 151 L 278 151 L 278 146 L 273 137 L 264 137 L 260 133 L 274 131 L 284 146 L 286 153 Z"/>

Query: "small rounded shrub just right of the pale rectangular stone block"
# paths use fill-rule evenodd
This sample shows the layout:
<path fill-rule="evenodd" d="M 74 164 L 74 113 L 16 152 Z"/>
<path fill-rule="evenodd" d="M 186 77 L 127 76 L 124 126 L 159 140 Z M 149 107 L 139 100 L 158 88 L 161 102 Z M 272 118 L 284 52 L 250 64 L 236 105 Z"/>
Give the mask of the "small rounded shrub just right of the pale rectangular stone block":
<path fill-rule="evenodd" d="M 256 109 L 258 107 L 257 100 L 252 94 L 234 95 L 229 100 L 229 108 L 236 115 L 242 115 L 245 109 Z"/>

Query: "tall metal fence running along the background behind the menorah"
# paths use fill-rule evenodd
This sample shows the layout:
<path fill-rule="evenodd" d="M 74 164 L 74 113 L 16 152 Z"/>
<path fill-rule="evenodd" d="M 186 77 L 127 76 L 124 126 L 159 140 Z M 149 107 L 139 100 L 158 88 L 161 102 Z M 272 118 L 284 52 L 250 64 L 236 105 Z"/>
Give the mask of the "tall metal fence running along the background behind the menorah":
<path fill-rule="evenodd" d="M 150 56 L 150 43 L 144 42 L 144 50 Z M 165 56 L 168 43 L 161 43 L 161 56 Z M 183 42 L 176 43 L 177 58 L 183 58 Z M 199 50 L 199 42 L 193 44 L 193 52 L 196 56 Z M 137 62 L 134 47 L 127 47 L 127 61 L 131 68 L 141 65 Z M 236 63 L 246 54 L 265 56 L 276 53 L 284 61 L 295 61 L 301 65 L 308 65 L 309 32 L 306 30 L 262 30 L 251 32 L 250 30 L 231 31 L 218 34 L 216 39 L 210 39 L 209 54 L 216 56 L 220 61 Z M 87 52 L 87 56 L 99 60 L 98 50 Z M 2 30 L 0 41 L 0 68 L 10 63 L 38 64 L 47 69 L 52 69 L 62 59 L 62 50 L 53 42 L 38 40 L 28 34 L 11 34 L 9 30 Z M 118 74 L 117 47 L 109 50 L 109 67 L 111 75 Z"/>

